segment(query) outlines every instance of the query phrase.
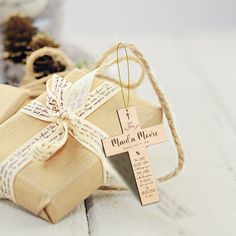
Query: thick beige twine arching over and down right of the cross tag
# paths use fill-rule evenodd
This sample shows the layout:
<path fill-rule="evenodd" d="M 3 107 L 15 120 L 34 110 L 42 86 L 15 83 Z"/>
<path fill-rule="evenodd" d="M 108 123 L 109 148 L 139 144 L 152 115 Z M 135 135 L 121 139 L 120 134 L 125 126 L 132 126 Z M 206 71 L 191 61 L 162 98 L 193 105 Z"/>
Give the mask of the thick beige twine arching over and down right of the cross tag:
<path fill-rule="evenodd" d="M 126 44 L 126 43 L 120 43 L 119 48 L 126 48 L 129 49 L 135 57 L 137 57 L 138 61 L 142 64 L 142 68 L 144 68 L 144 71 L 152 85 L 153 90 L 155 91 L 155 94 L 157 95 L 159 102 L 161 104 L 162 110 L 166 116 L 168 125 L 170 127 L 171 135 L 176 147 L 177 155 L 178 155 L 178 165 L 177 167 L 171 171 L 169 174 L 162 176 L 157 179 L 157 181 L 164 182 L 166 180 L 169 180 L 175 176 L 177 176 L 181 170 L 183 169 L 184 165 L 184 151 L 183 147 L 181 145 L 179 136 L 177 134 L 177 130 L 174 124 L 173 115 L 170 109 L 170 106 L 167 102 L 167 99 L 165 98 L 164 93 L 162 92 L 160 86 L 157 84 L 155 80 L 155 76 L 152 73 L 151 67 L 147 60 L 145 59 L 142 52 L 133 44 Z M 96 66 L 100 66 L 103 64 L 109 56 L 111 56 L 115 51 L 117 50 L 117 46 L 113 46 L 112 48 L 108 49 L 102 56 L 102 58 L 97 62 Z M 127 87 L 127 86 L 126 86 Z"/>

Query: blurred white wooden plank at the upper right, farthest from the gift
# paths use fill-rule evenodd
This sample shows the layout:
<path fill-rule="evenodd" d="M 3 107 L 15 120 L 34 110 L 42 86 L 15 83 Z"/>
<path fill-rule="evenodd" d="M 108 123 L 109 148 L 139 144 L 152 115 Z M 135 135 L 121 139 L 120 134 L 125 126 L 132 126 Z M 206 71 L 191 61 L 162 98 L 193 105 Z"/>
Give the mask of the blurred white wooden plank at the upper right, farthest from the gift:
<path fill-rule="evenodd" d="M 236 111 L 232 109 L 236 89 L 236 32 L 214 32 L 211 34 L 184 37 L 183 53 L 191 57 L 186 61 L 199 80 L 215 95 L 215 103 L 221 106 L 226 119 L 231 119 L 234 127 Z M 194 64 L 194 66 L 193 66 Z"/>

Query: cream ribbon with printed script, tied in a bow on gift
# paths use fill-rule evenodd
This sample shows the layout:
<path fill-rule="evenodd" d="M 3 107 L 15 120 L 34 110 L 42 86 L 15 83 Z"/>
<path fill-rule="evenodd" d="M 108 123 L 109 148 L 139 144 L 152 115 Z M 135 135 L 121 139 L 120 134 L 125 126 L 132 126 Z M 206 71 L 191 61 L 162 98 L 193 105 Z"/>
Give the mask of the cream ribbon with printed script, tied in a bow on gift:
<path fill-rule="evenodd" d="M 51 158 L 65 145 L 68 135 L 100 158 L 103 180 L 106 181 L 107 171 L 111 168 L 104 156 L 101 140 L 108 135 L 85 118 L 118 93 L 120 88 L 104 82 L 89 93 L 99 69 L 101 67 L 84 75 L 73 85 L 53 75 L 46 86 L 46 104 L 34 100 L 21 109 L 21 112 L 50 124 L 0 163 L 0 198 L 16 202 L 14 180 L 17 173 L 31 161 L 41 162 Z"/>

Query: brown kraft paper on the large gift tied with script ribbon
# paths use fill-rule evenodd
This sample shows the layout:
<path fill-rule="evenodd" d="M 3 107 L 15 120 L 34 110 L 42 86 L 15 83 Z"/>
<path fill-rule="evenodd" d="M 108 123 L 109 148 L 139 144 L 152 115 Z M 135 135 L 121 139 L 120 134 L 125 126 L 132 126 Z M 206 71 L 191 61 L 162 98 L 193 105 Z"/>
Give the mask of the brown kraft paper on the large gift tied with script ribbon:
<path fill-rule="evenodd" d="M 74 82 L 81 71 L 74 69 L 65 79 Z M 95 79 L 93 88 L 101 80 Z M 37 98 L 45 100 L 45 94 Z M 142 127 L 162 123 L 161 108 L 132 95 Z M 123 107 L 121 92 L 87 117 L 110 136 L 121 133 L 116 110 Z M 0 126 L 0 160 L 24 144 L 48 125 L 47 122 L 17 112 Z M 45 163 L 31 162 L 15 179 L 15 198 L 19 205 L 35 215 L 56 223 L 78 203 L 103 184 L 100 159 L 69 136 L 66 145 Z"/>

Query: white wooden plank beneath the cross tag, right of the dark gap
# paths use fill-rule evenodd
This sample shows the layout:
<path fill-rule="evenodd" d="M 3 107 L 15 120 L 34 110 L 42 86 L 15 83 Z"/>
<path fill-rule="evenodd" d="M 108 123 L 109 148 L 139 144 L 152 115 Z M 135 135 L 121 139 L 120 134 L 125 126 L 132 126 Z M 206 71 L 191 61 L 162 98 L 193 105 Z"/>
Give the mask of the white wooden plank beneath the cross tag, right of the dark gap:
<path fill-rule="evenodd" d="M 160 185 L 163 201 L 157 205 L 141 207 L 131 192 L 95 194 L 89 201 L 91 235 L 148 232 L 148 235 L 233 236 L 236 233 L 235 173 L 231 171 L 234 163 L 225 164 L 224 152 L 233 154 L 236 142 L 229 120 L 222 115 L 224 107 L 216 106 L 216 95 L 199 79 L 194 65 L 186 63 L 194 58 L 183 53 L 180 39 L 150 42 L 149 37 L 149 44 L 143 39 L 141 44 L 146 45 L 143 48 L 149 51 L 150 60 L 158 62 L 159 80 L 178 117 L 186 167 L 180 177 Z M 146 88 L 147 85 L 143 95 L 150 97 L 145 93 Z M 156 147 L 152 151 L 153 156 L 159 156 L 152 158 L 153 163 L 158 163 L 156 173 L 170 166 L 173 153 L 169 147 Z"/>

